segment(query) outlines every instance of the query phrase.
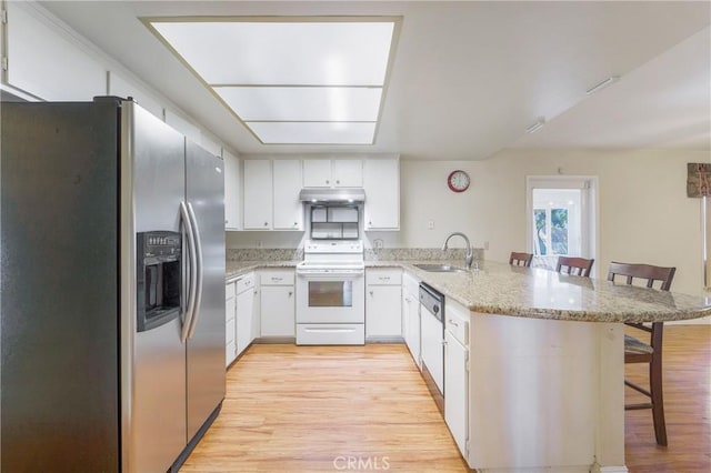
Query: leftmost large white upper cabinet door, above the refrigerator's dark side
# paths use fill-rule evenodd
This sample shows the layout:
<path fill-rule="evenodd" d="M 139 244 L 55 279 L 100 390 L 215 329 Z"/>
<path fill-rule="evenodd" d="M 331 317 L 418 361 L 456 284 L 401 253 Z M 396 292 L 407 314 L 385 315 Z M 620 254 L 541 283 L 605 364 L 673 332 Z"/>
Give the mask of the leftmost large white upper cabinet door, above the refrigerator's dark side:
<path fill-rule="evenodd" d="M 8 84 L 48 101 L 107 93 L 107 69 L 31 2 L 7 2 Z"/>

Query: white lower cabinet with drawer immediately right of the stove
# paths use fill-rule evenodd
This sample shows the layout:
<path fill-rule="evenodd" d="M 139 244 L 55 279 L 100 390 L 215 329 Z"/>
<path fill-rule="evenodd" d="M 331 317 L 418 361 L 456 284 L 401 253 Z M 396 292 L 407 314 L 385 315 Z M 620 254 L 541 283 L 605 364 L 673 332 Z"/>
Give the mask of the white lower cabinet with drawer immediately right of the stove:
<path fill-rule="evenodd" d="M 365 339 L 402 338 L 402 270 L 365 270 Z"/>

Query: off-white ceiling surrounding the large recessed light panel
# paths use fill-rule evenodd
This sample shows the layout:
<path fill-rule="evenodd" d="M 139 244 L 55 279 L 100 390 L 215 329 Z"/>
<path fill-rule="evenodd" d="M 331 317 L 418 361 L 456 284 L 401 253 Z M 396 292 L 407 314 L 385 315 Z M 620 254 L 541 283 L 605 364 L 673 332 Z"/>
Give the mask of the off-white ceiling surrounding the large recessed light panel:
<path fill-rule="evenodd" d="M 44 1 L 240 153 L 482 160 L 504 148 L 711 150 L 707 1 Z M 372 145 L 261 144 L 141 17 L 402 16 Z M 585 94 L 602 80 L 610 87 Z M 525 129 L 544 119 L 535 133 Z"/>

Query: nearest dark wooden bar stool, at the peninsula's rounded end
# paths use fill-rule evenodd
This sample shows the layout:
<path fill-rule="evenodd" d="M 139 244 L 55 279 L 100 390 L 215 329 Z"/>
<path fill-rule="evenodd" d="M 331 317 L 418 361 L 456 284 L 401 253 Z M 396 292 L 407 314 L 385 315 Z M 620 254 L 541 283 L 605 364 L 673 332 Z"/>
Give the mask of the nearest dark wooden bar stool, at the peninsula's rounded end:
<path fill-rule="evenodd" d="M 610 263 L 608 281 L 614 281 L 615 275 L 624 276 L 627 284 L 634 279 L 647 280 L 647 286 L 652 288 L 660 281 L 659 289 L 669 291 L 674 279 L 677 268 L 653 266 L 651 264 Z M 643 323 L 625 323 L 625 325 L 649 333 L 649 343 L 631 335 L 624 335 L 624 363 L 649 364 L 649 390 L 624 380 L 624 384 L 650 399 L 650 402 L 625 404 L 625 410 L 651 409 L 654 422 L 654 436 L 659 445 L 667 445 L 667 424 L 664 422 L 664 399 L 662 395 L 662 334 L 663 322 L 653 322 L 651 326 Z"/>

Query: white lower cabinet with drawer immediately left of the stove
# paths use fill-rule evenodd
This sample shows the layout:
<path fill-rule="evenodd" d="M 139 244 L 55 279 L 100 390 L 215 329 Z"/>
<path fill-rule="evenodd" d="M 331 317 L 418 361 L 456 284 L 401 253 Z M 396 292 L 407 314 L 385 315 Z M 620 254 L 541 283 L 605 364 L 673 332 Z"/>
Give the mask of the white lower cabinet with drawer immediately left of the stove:
<path fill-rule="evenodd" d="M 294 270 L 261 271 L 261 336 L 296 336 Z"/>

